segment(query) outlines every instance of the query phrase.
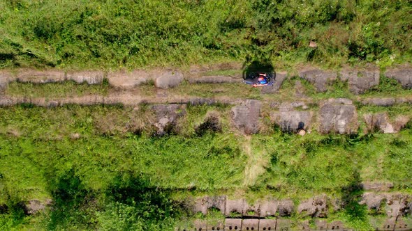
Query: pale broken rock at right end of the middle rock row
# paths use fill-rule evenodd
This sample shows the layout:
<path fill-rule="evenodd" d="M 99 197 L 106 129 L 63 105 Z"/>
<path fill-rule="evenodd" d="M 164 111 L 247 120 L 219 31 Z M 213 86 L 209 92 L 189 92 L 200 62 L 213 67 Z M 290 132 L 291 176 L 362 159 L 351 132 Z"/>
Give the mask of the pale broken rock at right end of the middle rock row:
<path fill-rule="evenodd" d="M 363 118 L 368 132 L 397 133 L 409 122 L 409 118 L 406 116 L 398 116 L 394 122 L 390 122 L 388 113 L 369 113 L 365 114 Z"/>

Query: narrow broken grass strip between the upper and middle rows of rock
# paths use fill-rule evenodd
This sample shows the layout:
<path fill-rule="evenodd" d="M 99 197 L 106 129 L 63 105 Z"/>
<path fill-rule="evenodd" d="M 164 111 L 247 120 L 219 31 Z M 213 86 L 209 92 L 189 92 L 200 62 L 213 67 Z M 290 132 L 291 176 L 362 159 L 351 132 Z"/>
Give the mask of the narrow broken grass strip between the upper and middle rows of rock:
<path fill-rule="evenodd" d="M 206 74 L 225 74 L 226 72 L 207 72 Z M 228 74 L 228 73 L 226 73 Z M 368 97 L 406 97 L 412 95 L 412 90 L 405 90 L 394 79 L 381 76 L 378 86 L 367 90 L 361 95 L 354 95 L 348 88 L 348 84 L 343 81 L 334 81 L 328 86 L 325 93 L 318 93 L 314 86 L 308 81 L 299 77 L 286 79 L 279 89 L 279 93 L 263 95 L 260 88 L 251 88 L 244 83 L 188 83 L 184 81 L 176 88 L 165 90 L 168 95 L 181 95 L 187 97 L 229 97 L 243 99 L 265 99 L 277 101 L 295 101 L 300 97 L 295 95 L 295 82 L 302 83 L 302 92 L 314 102 L 321 99 L 334 97 L 346 97 L 349 99 L 363 99 Z M 133 89 L 134 94 L 142 96 L 155 96 L 159 89 L 154 83 L 146 83 Z M 108 95 L 116 93 L 118 90 L 112 88 L 107 81 L 100 85 L 78 84 L 74 81 L 64 83 L 20 83 L 12 82 L 5 90 L 6 95 L 24 97 L 75 97 L 83 95 Z"/>

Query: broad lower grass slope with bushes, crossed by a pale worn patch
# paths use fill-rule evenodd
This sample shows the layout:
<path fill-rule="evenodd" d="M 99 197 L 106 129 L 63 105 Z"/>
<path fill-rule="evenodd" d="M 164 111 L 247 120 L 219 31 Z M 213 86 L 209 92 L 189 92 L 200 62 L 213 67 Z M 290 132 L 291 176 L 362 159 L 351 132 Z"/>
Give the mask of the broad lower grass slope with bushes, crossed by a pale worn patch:
<path fill-rule="evenodd" d="M 177 201 L 205 193 L 341 198 L 360 181 L 393 182 L 394 191 L 411 193 L 410 126 L 399 134 L 301 137 L 267 129 L 245 137 L 230 132 L 228 110 L 191 106 L 179 135 L 156 138 L 134 134 L 133 118 L 144 111 L 127 107 L 1 108 L 0 205 L 9 210 L 0 214 L 0 228 L 171 230 L 185 214 Z M 404 111 L 388 109 L 397 110 Z M 196 136 L 193 127 L 207 111 L 221 113 L 223 132 Z M 57 209 L 24 216 L 18 202 L 34 198 L 52 198 Z M 330 218 L 362 227 L 368 216 Z"/>

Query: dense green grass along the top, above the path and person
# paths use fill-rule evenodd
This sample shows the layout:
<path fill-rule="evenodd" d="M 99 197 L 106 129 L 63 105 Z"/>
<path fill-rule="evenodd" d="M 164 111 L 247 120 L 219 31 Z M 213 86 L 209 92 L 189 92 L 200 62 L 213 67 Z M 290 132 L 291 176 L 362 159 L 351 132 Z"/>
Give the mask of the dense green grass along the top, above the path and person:
<path fill-rule="evenodd" d="M 384 0 L 7 0 L 0 3 L 0 67 L 121 69 L 253 59 L 281 68 L 385 67 L 411 61 L 411 7 Z"/>

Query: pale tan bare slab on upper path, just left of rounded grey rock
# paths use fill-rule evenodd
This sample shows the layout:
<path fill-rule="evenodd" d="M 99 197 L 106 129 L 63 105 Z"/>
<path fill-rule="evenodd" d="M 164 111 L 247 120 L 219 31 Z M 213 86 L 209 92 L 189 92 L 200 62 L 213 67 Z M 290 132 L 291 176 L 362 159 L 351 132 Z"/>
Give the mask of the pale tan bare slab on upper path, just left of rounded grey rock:
<path fill-rule="evenodd" d="M 117 88 L 134 88 L 142 83 L 147 83 L 149 80 L 154 80 L 154 78 L 154 73 L 142 70 L 108 73 L 108 81 L 110 85 Z"/>

